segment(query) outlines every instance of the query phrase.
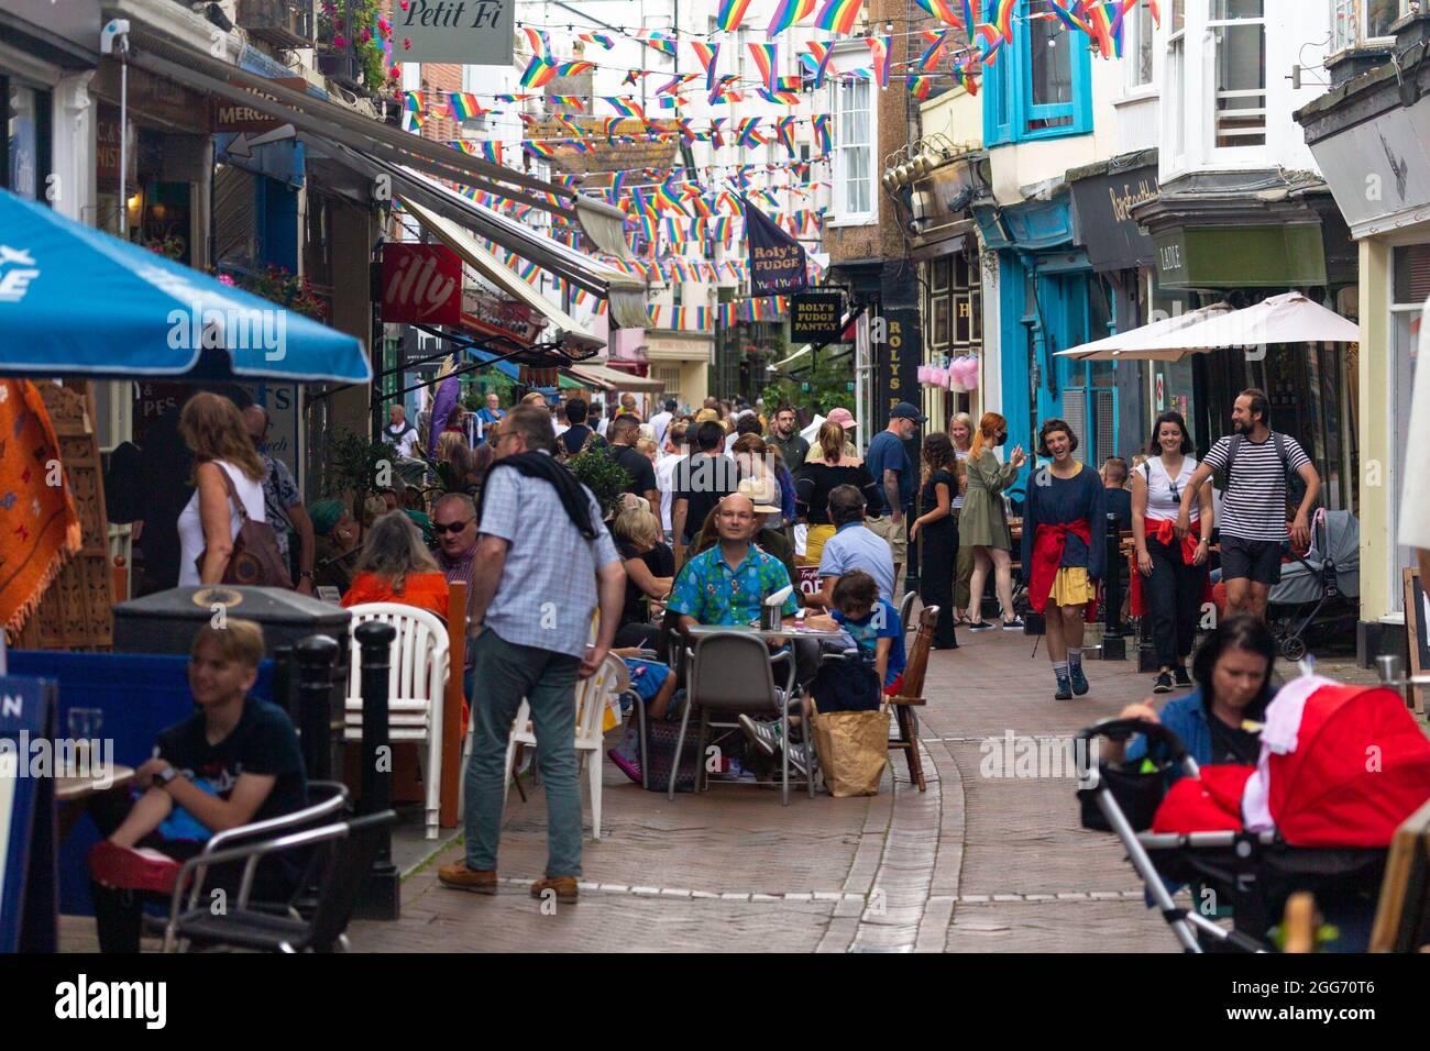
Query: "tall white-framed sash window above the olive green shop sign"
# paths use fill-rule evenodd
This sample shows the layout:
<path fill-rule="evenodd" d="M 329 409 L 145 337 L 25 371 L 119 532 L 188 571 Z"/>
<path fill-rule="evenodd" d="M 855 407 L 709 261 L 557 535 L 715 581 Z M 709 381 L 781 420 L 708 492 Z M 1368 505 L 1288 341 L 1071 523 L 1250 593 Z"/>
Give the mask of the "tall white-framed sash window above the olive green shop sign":
<path fill-rule="evenodd" d="M 1216 146 L 1266 146 L 1266 0 L 1213 0 Z"/>

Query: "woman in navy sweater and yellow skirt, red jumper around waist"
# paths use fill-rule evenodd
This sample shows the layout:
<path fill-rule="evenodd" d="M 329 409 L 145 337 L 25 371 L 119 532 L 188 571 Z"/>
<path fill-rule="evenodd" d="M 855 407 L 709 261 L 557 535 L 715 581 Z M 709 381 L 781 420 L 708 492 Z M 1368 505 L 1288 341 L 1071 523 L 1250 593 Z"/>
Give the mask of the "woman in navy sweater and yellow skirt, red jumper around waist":
<path fill-rule="evenodd" d="M 1083 625 L 1107 561 L 1103 479 L 1072 459 L 1075 450 L 1077 435 L 1064 420 L 1042 425 L 1038 455 L 1052 463 L 1032 472 L 1022 512 L 1022 576 L 1028 603 L 1047 623 L 1057 701 L 1088 691 Z"/>

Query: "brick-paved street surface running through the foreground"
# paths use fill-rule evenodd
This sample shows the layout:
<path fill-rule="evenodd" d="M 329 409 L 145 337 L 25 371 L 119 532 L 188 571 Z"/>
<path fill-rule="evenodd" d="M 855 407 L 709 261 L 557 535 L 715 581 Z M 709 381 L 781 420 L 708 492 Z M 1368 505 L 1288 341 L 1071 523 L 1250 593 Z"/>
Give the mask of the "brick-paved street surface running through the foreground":
<path fill-rule="evenodd" d="M 403 885 L 395 924 L 353 925 L 365 951 L 1175 951 L 1117 841 L 1078 827 L 1072 776 L 984 776 L 987 738 L 1067 738 L 1150 692 L 1133 662 L 1085 663 L 1093 691 L 1052 699 L 1034 639 L 960 632 L 930 661 L 928 792 L 895 756 L 871 798 L 716 786 L 645 792 L 605 764 L 605 827 L 581 901 L 545 915 L 545 802 L 511 796 L 495 898 L 450 891 L 436 864 Z M 1336 671 L 1340 671 L 1337 668 Z M 892 775 L 892 776 L 891 776 Z"/>

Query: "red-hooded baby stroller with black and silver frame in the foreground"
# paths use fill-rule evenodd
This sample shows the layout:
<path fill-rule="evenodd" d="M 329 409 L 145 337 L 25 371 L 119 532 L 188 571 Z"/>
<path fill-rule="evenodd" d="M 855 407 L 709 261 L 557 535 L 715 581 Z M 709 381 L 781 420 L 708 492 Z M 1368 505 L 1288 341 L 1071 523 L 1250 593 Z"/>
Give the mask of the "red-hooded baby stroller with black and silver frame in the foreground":
<path fill-rule="evenodd" d="M 1297 679 L 1267 709 L 1254 768 L 1198 768 L 1174 732 L 1137 719 L 1078 738 L 1093 755 L 1095 738 L 1134 734 L 1147 735 L 1147 761 L 1088 771 L 1083 827 L 1117 834 L 1183 949 L 1273 951 L 1271 928 L 1297 891 L 1341 928 L 1337 948 L 1364 949 L 1394 829 L 1430 798 L 1430 742 L 1399 694 Z M 1173 768 L 1184 776 L 1167 789 Z M 1191 908 L 1173 898 L 1183 884 Z M 1208 904 L 1230 905 L 1231 929 L 1204 914 Z"/>

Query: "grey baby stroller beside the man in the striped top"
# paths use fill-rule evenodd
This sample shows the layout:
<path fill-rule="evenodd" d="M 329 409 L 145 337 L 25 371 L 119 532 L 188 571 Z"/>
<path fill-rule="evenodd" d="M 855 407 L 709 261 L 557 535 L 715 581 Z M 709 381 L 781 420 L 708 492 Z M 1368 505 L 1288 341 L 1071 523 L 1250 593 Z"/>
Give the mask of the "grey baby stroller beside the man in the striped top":
<path fill-rule="evenodd" d="M 1356 626 L 1360 599 L 1360 523 L 1348 510 L 1318 509 L 1311 549 L 1281 568 L 1267 596 L 1267 622 L 1287 661 L 1306 656 L 1308 631 Z"/>

